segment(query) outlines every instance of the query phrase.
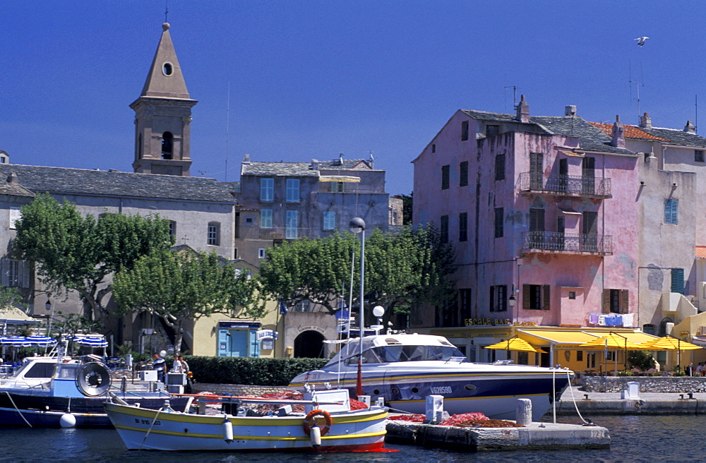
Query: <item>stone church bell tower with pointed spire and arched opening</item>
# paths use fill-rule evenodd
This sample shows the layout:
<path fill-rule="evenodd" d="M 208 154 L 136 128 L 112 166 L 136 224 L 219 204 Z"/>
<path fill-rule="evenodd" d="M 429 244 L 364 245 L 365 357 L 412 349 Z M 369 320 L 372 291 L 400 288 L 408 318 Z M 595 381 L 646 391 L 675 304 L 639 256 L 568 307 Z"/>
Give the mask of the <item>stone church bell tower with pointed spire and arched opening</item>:
<path fill-rule="evenodd" d="M 135 172 L 189 176 L 191 107 L 196 103 L 186 90 L 169 23 L 164 23 L 145 87 L 130 105 L 135 111 Z"/>

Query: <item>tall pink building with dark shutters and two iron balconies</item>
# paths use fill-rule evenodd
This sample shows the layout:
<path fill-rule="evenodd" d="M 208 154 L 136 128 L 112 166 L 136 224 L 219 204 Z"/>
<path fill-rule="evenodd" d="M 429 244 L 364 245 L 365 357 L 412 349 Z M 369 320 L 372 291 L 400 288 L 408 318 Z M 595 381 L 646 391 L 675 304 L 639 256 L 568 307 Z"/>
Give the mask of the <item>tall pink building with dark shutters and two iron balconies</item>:
<path fill-rule="evenodd" d="M 524 97 L 457 111 L 413 163 L 414 222 L 454 242 L 458 297 L 413 325 L 638 326 L 638 156 L 613 132 Z"/>

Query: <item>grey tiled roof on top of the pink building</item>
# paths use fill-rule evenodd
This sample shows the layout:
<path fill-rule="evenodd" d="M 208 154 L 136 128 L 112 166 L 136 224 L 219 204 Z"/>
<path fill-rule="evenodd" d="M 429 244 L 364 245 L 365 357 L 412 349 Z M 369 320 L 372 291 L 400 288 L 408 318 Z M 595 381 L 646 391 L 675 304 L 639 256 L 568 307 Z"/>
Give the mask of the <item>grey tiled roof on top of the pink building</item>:
<path fill-rule="evenodd" d="M 462 109 L 462 112 L 465 112 L 465 114 L 468 114 L 474 119 L 498 122 L 515 122 L 517 124 L 522 124 L 520 121 L 517 121 L 514 114 L 473 111 L 471 109 Z M 626 150 L 625 148 L 616 148 L 615 146 L 612 146 L 611 137 L 607 136 L 599 128 L 592 126 L 578 116 L 530 116 L 530 122 L 527 124 L 534 124 L 534 126 L 538 127 L 542 130 L 542 132 L 550 135 L 578 138 L 580 150 L 635 155 L 634 152 Z"/>

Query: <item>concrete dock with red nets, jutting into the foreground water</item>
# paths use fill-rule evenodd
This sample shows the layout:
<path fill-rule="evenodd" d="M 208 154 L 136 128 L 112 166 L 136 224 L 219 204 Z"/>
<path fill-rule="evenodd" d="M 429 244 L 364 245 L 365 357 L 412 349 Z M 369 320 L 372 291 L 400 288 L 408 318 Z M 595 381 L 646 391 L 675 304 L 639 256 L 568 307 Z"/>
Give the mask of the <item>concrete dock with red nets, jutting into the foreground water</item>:
<path fill-rule="evenodd" d="M 606 428 L 575 424 L 530 423 L 524 428 L 460 428 L 388 420 L 391 443 L 445 448 L 459 452 L 491 450 L 606 449 Z"/>

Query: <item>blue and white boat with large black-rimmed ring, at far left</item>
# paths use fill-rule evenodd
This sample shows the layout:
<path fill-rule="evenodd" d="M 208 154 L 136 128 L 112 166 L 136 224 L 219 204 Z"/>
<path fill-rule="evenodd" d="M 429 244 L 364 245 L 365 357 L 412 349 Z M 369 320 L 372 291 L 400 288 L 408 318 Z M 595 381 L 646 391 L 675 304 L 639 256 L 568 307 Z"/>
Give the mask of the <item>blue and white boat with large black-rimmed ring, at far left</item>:
<path fill-rule="evenodd" d="M 30 427 L 109 427 L 103 403 L 112 376 L 102 363 L 82 363 L 69 357 L 28 357 L 10 378 L 0 382 L 0 425 Z M 125 402 L 158 409 L 164 400 L 187 409 L 188 397 L 163 391 L 114 388 Z"/>

